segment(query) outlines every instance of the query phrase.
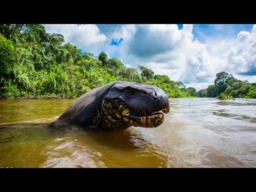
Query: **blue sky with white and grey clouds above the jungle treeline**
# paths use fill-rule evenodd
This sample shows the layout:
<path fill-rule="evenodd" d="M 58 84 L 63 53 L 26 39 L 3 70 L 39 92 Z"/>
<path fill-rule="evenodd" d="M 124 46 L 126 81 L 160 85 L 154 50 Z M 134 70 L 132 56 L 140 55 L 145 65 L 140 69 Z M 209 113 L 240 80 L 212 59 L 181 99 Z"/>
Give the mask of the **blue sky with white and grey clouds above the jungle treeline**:
<path fill-rule="evenodd" d="M 84 52 L 145 66 L 196 90 L 216 73 L 256 82 L 255 24 L 45 24 Z"/>

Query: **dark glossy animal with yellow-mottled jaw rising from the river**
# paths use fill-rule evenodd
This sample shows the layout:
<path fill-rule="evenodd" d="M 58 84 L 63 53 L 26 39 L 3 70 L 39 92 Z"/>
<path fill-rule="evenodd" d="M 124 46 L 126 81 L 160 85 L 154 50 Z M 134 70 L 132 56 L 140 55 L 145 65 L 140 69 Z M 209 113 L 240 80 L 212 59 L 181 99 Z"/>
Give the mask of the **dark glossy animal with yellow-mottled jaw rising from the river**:
<path fill-rule="evenodd" d="M 164 120 L 160 111 L 168 113 L 169 110 L 169 99 L 161 88 L 116 81 L 76 99 L 51 127 L 105 130 L 124 130 L 129 126 L 156 127 Z"/>

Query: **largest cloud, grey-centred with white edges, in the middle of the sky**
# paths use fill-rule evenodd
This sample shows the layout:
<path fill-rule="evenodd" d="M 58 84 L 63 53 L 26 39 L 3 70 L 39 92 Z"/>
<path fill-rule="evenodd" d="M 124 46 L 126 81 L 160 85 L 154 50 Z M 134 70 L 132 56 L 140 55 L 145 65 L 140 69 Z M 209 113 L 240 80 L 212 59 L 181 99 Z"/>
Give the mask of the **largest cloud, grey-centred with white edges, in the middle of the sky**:
<path fill-rule="evenodd" d="M 185 84 L 209 81 L 212 63 L 206 45 L 194 40 L 192 25 L 127 25 L 115 33 L 124 37 L 122 59 L 143 65 Z"/>

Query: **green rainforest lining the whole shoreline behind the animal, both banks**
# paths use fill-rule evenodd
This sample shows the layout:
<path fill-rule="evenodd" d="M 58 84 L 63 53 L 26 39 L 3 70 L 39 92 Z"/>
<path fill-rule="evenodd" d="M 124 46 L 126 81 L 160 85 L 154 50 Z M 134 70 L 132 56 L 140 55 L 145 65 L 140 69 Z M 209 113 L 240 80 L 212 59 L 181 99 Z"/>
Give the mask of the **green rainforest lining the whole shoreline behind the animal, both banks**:
<path fill-rule="evenodd" d="M 75 99 L 113 81 L 135 81 L 162 88 L 170 98 L 256 98 L 256 84 L 217 73 L 214 85 L 196 92 L 181 81 L 137 65 L 127 68 L 105 52 L 96 57 L 48 34 L 40 24 L 0 24 L 0 99 Z"/>

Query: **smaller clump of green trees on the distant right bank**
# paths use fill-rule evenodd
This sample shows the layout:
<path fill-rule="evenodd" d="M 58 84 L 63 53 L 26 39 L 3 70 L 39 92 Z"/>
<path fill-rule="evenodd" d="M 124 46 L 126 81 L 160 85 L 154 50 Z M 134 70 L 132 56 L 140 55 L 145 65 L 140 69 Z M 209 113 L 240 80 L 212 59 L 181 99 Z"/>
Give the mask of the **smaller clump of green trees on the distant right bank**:
<path fill-rule="evenodd" d="M 198 95 L 199 97 L 217 97 L 219 99 L 256 98 L 256 85 L 221 72 L 217 73 L 214 84 L 199 90 Z"/>

